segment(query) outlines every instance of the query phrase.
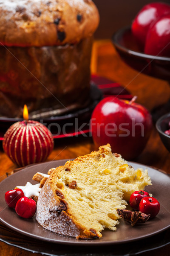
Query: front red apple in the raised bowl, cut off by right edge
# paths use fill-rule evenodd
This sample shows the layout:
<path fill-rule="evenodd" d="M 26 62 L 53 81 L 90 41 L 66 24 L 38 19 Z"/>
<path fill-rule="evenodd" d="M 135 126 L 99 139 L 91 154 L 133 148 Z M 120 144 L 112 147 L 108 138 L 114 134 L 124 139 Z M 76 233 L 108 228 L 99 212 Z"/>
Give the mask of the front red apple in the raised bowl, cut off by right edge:
<path fill-rule="evenodd" d="M 150 26 L 144 52 L 170 57 L 170 14 L 161 17 Z"/>

